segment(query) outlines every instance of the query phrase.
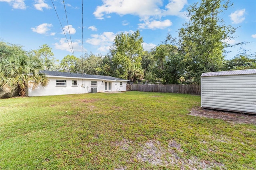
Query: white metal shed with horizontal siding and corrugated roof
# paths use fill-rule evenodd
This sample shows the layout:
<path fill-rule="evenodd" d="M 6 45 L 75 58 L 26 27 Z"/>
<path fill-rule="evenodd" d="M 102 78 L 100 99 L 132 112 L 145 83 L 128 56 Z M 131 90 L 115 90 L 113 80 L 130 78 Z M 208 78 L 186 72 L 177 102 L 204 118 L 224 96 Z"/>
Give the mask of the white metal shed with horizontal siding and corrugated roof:
<path fill-rule="evenodd" d="M 256 69 L 202 73 L 201 107 L 256 114 Z"/>

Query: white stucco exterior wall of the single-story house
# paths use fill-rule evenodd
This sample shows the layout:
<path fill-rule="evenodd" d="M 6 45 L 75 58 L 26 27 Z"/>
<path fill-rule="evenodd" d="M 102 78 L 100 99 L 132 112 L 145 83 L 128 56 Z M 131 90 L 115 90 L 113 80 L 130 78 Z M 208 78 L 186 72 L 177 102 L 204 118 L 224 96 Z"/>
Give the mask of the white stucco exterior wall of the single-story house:
<path fill-rule="evenodd" d="M 126 91 L 126 81 L 106 81 L 96 79 L 81 79 L 70 77 L 48 77 L 49 84 L 46 87 L 39 86 L 37 89 L 28 89 L 28 96 L 49 96 L 91 93 L 91 88 L 96 87 L 97 92 L 105 91 Z M 66 86 L 56 86 L 56 80 L 66 80 Z M 72 86 L 72 80 L 77 80 L 78 85 Z M 91 86 L 91 81 L 97 81 L 97 86 Z M 105 90 L 105 82 L 111 83 L 111 89 Z M 122 86 L 120 86 L 122 82 Z"/>

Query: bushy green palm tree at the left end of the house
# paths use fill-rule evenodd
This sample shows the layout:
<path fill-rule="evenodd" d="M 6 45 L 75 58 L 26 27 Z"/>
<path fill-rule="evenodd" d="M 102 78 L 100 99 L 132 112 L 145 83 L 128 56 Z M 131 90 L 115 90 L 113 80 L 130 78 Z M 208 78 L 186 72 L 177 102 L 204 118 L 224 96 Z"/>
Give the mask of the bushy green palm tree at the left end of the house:
<path fill-rule="evenodd" d="M 42 63 L 26 55 L 10 55 L 0 59 L 0 87 L 9 93 L 18 89 L 19 95 L 25 96 L 28 87 L 35 89 L 38 85 L 46 86 L 49 82 Z"/>

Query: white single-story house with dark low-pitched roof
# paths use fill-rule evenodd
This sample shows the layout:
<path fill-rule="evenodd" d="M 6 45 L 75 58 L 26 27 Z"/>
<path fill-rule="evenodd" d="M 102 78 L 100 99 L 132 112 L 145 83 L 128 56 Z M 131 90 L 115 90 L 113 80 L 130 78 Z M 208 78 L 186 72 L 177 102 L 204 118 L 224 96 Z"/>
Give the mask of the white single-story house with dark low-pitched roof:
<path fill-rule="evenodd" d="M 107 91 L 126 91 L 130 80 L 104 75 L 88 75 L 59 71 L 40 71 L 49 79 L 46 87 L 39 85 L 36 89 L 28 89 L 28 96 L 67 95 L 97 93 Z"/>

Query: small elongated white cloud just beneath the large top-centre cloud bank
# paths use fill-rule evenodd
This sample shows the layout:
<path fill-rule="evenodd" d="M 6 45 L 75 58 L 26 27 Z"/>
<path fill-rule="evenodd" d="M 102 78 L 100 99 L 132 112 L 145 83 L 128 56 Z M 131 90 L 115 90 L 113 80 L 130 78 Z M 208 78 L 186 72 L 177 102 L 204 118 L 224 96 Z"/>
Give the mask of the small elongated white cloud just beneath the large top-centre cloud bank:
<path fill-rule="evenodd" d="M 164 21 L 153 20 L 153 21 L 145 21 L 144 23 L 138 24 L 138 25 L 139 25 L 139 28 L 142 28 L 142 29 L 155 30 L 155 29 L 164 29 L 166 27 L 169 27 L 172 25 L 172 22 L 170 20 L 164 20 Z"/>

